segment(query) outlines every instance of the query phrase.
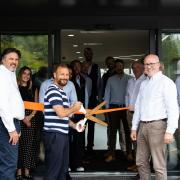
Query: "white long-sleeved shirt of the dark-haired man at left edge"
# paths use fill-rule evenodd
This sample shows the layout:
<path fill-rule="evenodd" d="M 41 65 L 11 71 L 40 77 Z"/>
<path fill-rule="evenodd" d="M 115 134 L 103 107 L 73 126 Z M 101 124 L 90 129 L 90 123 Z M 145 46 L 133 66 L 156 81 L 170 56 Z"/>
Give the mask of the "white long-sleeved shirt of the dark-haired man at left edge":
<path fill-rule="evenodd" d="M 0 117 L 8 132 L 15 130 L 14 118 L 24 119 L 24 112 L 15 72 L 0 65 Z"/>

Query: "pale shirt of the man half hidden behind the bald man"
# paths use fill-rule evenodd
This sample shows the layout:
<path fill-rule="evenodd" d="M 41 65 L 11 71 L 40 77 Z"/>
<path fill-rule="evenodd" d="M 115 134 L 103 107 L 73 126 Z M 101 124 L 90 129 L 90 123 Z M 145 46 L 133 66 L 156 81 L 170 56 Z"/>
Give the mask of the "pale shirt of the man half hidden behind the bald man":
<path fill-rule="evenodd" d="M 126 106 L 129 106 L 130 111 L 134 111 L 134 105 L 139 93 L 139 88 L 144 81 L 146 76 L 142 74 L 138 79 L 135 77 L 128 80 L 127 89 L 126 89 Z"/>

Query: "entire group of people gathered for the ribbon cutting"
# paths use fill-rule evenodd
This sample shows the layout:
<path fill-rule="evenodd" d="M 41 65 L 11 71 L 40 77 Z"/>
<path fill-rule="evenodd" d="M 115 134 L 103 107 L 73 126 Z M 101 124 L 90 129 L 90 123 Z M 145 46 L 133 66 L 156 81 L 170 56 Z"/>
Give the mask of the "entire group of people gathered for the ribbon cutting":
<path fill-rule="evenodd" d="M 102 83 L 100 68 L 92 61 L 92 49 L 85 48 L 84 56 L 83 63 L 74 60 L 70 67 L 54 66 L 52 77 L 36 89 L 29 67 L 21 68 L 16 79 L 20 51 L 7 48 L 2 52 L 0 179 L 13 180 L 15 173 L 19 180 L 32 179 L 30 171 L 37 165 L 41 131 L 37 128 L 38 112 L 25 110 L 23 101 L 44 103 L 44 179 L 66 180 L 69 167 L 84 170 L 85 126 L 78 123 L 84 115 L 76 112 L 82 106 L 94 108 L 102 99 L 107 102 L 106 108 L 129 107 L 127 111 L 105 115 L 108 122 L 105 161 L 116 158 L 116 134 L 119 131 L 121 149 L 127 160 L 136 157 L 140 179 L 150 179 L 150 159 L 156 179 L 167 179 L 166 144 L 173 141 L 178 128 L 179 108 L 176 85 L 162 73 L 158 56 L 150 54 L 143 62 L 133 62 L 134 77 L 124 73 L 122 60 L 109 56 L 106 58 L 108 71 L 103 75 Z M 87 152 L 91 154 L 94 145 L 94 123 L 91 121 L 88 121 L 87 139 Z"/>

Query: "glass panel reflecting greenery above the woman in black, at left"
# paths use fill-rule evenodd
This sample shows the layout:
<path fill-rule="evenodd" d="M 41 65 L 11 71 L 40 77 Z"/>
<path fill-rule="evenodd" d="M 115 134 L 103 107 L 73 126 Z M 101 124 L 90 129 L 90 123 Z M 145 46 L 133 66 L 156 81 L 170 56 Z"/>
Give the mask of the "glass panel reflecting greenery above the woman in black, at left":
<path fill-rule="evenodd" d="M 48 35 L 1 35 L 1 50 L 7 47 L 21 51 L 18 68 L 29 66 L 37 72 L 40 67 L 48 66 Z"/>

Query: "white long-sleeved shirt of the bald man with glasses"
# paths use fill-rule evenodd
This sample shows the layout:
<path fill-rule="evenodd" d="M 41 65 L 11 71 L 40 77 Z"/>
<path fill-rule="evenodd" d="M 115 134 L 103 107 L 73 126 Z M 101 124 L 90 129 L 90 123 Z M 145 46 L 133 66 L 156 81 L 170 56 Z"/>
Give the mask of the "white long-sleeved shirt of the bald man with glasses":
<path fill-rule="evenodd" d="M 141 83 L 135 103 L 132 130 L 137 130 L 140 121 L 167 118 L 166 132 L 174 133 L 178 127 L 179 109 L 175 83 L 162 72 Z"/>

